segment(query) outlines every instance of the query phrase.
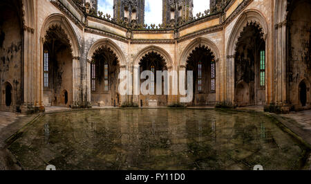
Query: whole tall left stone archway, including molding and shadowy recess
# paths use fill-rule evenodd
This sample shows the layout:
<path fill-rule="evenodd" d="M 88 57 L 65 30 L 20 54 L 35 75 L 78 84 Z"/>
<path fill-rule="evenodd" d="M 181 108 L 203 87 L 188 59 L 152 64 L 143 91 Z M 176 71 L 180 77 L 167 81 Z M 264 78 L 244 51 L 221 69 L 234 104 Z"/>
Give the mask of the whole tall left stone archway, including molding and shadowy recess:
<path fill-rule="evenodd" d="M 40 101 L 44 106 L 82 107 L 79 91 L 81 73 L 73 70 L 80 68 L 79 53 L 77 35 L 68 19 L 60 14 L 48 16 L 41 28 L 39 86 L 42 89 Z M 64 89 L 68 92 L 66 105 L 62 99 Z"/>

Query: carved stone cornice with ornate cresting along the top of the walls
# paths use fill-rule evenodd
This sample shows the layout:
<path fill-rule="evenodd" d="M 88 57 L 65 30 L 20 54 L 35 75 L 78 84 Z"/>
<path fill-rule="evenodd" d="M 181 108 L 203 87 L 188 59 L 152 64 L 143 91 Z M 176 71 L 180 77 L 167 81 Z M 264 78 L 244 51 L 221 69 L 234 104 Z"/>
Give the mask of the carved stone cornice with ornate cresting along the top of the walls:
<path fill-rule="evenodd" d="M 83 19 L 77 19 L 77 17 L 75 17 L 74 13 L 70 11 L 70 8 L 68 8 L 67 6 L 64 6 L 64 4 L 62 3 L 62 1 L 68 1 L 70 3 L 71 6 L 73 6 L 73 8 L 79 8 L 78 12 L 82 12 L 83 14 Z M 244 0 L 242 3 L 240 3 L 240 5 L 238 6 L 238 8 L 236 8 L 236 10 L 241 9 L 240 6 L 242 4 L 245 4 L 246 2 L 252 1 L 252 0 Z M 56 3 L 57 2 L 57 3 Z M 75 3 L 75 1 L 73 0 L 56 0 L 56 2 L 51 1 L 51 3 L 55 4 L 62 4 L 62 7 L 56 6 L 57 8 L 59 8 L 60 10 L 62 10 L 62 12 L 64 12 L 65 15 L 68 15 L 68 17 L 75 23 L 75 24 L 79 24 L 79 28 L 82 27 L 86 27 L 88 29 L 93 29 L 96 30 L 94 28 L 89 27 L 88 24 L 88 17 L 92 17 L 93 21 L 97 20 L 96 22 L 99 24 L 106 24 L 107 26 L 111 26 L 113 28 L 117 28 L 120 29 L 122 31 L 125 32 L 130 32 L 131 34 L 133 33 L 152 33 L 152 34 L 161 34 L 161 33 L 169 33 L 171 31 L 174 32 L 179 32 L 180 30 L 185 30 L 187 28 L 190 28 L 191 26 L 196 26 L 197 24 L 201 24 L 204 23 L 205 21 L 210 21 L 212 19 L 220 19 L 219 20 L 219 24 L 218 26 L 221 26 L 223 24 L 227 24 L 227 21 L 229 18 L 232 18 L 232 15 L 230 15 L 229 17 L 225 17 L 225 10 L 228 9 L 228 7 L 232 6 L 232 4 L 235 1 L 228 1 L 227 5 L 225 7 L 222 8 L 222 12 L 214 12 L 214 13 L 209 13 L 209 10 L 205 11 L 205 14 L 201 14 L 198 13 L 196 18 L 193 19 L 189 19 L 189 21 L 184 22 L 184 24 L 178 26 L 178 25 L 174 25 L 174 26 L 163 26 L 162 25 L 151 25 L 151 26 L 147 26 L 147 25 L 140 25 L 140 26 L 131 26 L 131 24 L 126 23 L 125 21 L 117 21 L 113 18 L 111 18 L 111 15 L 104 15 L 102 12 L 98 12 L 97 15 L 95 15 L 94 13 L 92 14 L 91 12 L 86 12 L 84 10 L 81 10 L 81 6 L 78 6 L 77 3 Z M 248 3 L 247 3 L 248 4 Z M 64 11 L 64 9 L 66 9 L 66 11 Z M 236 11 L 234 10 L 234 11 Z M 75 19 L 73 20 L 73 17 L 75 17 Z M 229 20 L 230 21 L 230 20 Z M 115 35 L 116 37 L 120 37 L 120 39 L 131 39 L 131 37 L 124 37 L 124 36 L 120 36 L 120 35 L 116 35 L 115 33 L 111 33 L 109 31 L 106 30 L 98 30 L 101 32 L 105 32 L 107 34 L 110 35 Z M 191 33 L 189 34 L 191 35 Z M 176 34 L 174 36 L 174 39 L 180 39 L 179 34 Z"/>

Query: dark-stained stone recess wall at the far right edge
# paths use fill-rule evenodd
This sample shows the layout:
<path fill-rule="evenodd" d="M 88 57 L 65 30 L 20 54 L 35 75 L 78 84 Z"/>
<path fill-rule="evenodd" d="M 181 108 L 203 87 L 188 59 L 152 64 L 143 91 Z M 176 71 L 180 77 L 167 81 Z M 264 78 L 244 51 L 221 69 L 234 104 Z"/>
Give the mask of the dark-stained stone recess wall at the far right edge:
<path fill-rule="evenodd" d="M 298 1 L 291 4 L 292 12 L 289 17 L 289 91 L 290 104 L 293 109 L 310 108 L 311 80 L 311 3 Z M 299 84 L 304 81 L 307 85 L 307 106 L 302 107 L 299 97 Z"/>

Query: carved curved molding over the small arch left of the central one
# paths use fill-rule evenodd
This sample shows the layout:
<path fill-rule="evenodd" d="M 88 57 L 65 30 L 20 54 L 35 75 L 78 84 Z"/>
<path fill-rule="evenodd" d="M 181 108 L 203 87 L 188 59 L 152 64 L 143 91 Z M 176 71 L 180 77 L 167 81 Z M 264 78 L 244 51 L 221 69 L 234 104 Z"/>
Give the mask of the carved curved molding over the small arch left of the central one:
<path fill-rule="evenodd" d="M 111 41 L 111 39 L 100 39 L 97 40 L 94 44 L 92 44 L 91 48 L 88 50 L 88 62 L 92 61 L 92 56 L 95 53 L 95 51 L 102 46 L 105 46 L 107 48 L 111 48 L 113 53 L 117 56 L 117 60 L 119 61 L 120 66 L 125 66 L 126 65 L 126 59 L 125 56 L 119 46 L 115 44 L 115 42 Z"/>

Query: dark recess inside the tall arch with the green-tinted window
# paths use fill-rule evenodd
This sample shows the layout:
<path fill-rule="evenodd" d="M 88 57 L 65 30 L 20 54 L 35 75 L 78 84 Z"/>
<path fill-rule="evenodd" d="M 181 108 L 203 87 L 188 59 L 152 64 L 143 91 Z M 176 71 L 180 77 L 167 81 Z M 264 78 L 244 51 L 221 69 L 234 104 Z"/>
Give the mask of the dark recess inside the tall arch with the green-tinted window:
<path fill-rule="evenodd" d="M 263 32 L 256 23 L 249 23 L 240 33 L 234 54 L 234 86 L 240 82 L 247 84 L 248 91 L 235 93 L 235 104 L 238 107 L 265 104 L 265 40 Z M 243 96 L 249 96 L 248 103 L 241 102 Z"/>

